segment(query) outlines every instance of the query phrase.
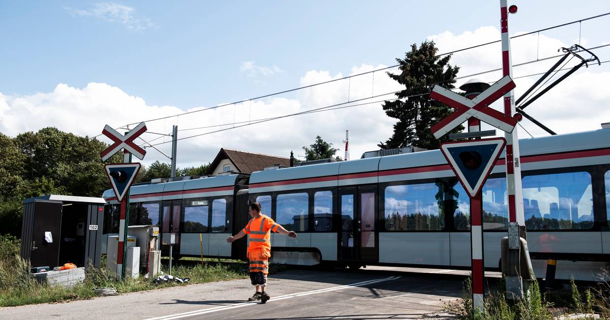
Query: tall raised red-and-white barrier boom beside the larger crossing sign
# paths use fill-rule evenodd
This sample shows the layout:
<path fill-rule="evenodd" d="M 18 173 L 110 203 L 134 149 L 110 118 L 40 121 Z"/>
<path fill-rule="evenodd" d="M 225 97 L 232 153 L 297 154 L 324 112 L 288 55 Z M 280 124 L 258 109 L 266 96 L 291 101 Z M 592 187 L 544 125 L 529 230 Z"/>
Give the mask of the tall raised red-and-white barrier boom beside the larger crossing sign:
<path fill-rule="evenodd" d="M 516 7 L 514 7 L 516 9 Z M 511 12 L 516 12 L 511 10 Z M 500 0 L 500 29 L 502 39 L 502 73 L 512 77 L 511 40 L 508 34 L 507 0 Z M 504 94 L 504 114 L 515 113 L 514 91 Z M 506 291 L 509 299 L 523 297 L 523 282 L 519 274 L 520 236 L 525 235 L 525 218 L 523 217 L 523 190 L 521 187 L 521 168 L 519 162 L 519 137 L 517 128 L 512 133 L 505 133 L 506 138 L 506 191 L 508 194 L 508 271 Z M 529 258 L 529 257 L 528 257 Z M 528 264 L 529 265 L 529 264 Z"/>

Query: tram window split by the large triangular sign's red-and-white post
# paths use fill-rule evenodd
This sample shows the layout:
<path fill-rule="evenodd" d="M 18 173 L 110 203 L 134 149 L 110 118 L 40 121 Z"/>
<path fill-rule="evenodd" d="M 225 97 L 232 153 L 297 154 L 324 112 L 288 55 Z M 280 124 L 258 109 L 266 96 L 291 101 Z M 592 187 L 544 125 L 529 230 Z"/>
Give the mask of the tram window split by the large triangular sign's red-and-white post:
<path fill-rule="evenodd" d="M 508 229 L 506 179 L 487 179 L 481 192 L 483 198 L 483 229 Z M 470 230 L 470 197 L 461 183 L 456 183 L 453 186 L 453 198 L 456 201 L 453 225 L 457 230 Z"/>

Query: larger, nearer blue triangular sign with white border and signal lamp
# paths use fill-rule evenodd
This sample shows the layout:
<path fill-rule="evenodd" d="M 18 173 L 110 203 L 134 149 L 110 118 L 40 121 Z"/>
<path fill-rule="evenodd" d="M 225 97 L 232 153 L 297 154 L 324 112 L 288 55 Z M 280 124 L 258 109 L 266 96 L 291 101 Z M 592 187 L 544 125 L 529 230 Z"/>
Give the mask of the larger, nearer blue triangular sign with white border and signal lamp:
<path fill-rule="evenodd" d="M 500 157 L 504 145 L 504 138 L 456 141 L 440 144 L 440 151 L 470 197 L 475 197 Z"/>

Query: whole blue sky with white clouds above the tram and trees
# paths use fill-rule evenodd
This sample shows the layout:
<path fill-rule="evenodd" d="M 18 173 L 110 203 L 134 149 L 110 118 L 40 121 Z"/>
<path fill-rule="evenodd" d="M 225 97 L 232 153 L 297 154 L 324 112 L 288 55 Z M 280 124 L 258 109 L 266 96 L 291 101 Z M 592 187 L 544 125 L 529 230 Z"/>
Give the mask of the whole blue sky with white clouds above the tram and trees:
<path fill-rule="evenodd" d="M 509 15 L 511 35 L 610 12 L 608 1 L 509 4 L 519 7 Z M 553 57 L 575 43 L 610 44 L 609 25 L 610 15 L 515 38 L 512 62 Z M 211 162 L 220 148 L 284 157 L 294 151 L 302 159 L 302 147 L 317 135 L 343 157 L 350 130 L 350 158 L 359 158 L 392 135 L 396 120 L 379 101 L 401 90 L 386 75 L 397 69 L 257 97 L 395 65 L 411 44 L 425 40 L 434 40 L 439 52 L 499 40 L 499 27 L 499 1 L 482 0 L 1 1 L 0 132 L 15 137 L 54 126 L 95 137 L 106 124 L 124 132 L 126 124 L 132 129 L 146 121 L 142 138 L 158 149 L 146 148 L 142 162 L 149 165 L 170 162 L 163 155 L 171 155 L 170 137 L 159 133 L 177 125 L 178 138 L 186 138 L 177 155 L 184 168 Z M 610 46 L 594 53 L 610 60 Z M 515 66 L 515 96 L 539 77 L 523 76 L 544 73 L 557 59 Z M 501 67 L 500 44 L 458 52 L 450 63 L 461 68 L 459 87 L 472 74 Z M 579 69 L 526 111 L 558 133 L 600 129 L 610 122 L 609 65 Z M 501 73 L 476 77 L 495 82 Z M 376 103 L 243 126 L 366 102 Z M 492 107 L 500 110 L 498 103 Z M 213 132 L 219 129 L 227 130 Z M 548 135 L 526 119 L 517 130 L 520 138 Z"/>

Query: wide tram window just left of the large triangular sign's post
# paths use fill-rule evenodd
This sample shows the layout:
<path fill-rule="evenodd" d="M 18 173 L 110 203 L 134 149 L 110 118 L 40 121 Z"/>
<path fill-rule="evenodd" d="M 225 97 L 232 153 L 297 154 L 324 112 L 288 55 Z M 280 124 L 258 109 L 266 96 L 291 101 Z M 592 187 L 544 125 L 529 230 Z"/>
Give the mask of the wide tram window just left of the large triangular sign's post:
<path fill-rule="evenodd" d="M 386 187 L 386 230 L 442 230 L 444 200 L 445 184 L 440 182 Z"/>

